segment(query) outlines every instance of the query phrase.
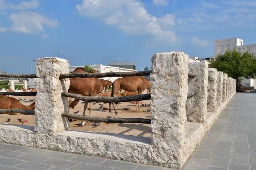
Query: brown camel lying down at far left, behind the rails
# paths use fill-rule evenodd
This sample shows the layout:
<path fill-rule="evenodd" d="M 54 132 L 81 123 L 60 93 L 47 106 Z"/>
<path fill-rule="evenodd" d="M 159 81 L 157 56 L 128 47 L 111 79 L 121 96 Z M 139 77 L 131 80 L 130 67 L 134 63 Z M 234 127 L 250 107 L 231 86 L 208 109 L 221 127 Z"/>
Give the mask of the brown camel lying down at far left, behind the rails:
<path fill-rule="evenodd" d="M 34 110 L 35 109 L 35 101 L 29 105 L 23 105 L 17 99 L 13 97 L 8 97 L 1 95 L 0 96 L 0 108 L 1 109 L 25 109 L 25 110 Z"/>

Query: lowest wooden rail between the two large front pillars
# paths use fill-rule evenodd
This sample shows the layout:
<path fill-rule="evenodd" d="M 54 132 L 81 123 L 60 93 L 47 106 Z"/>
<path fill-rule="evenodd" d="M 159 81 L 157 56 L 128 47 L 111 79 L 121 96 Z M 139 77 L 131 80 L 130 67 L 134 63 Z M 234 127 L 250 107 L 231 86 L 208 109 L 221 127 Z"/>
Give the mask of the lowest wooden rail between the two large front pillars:
<path fill-rule="evenodd" d="M 81 115 L 74 115 L 69 113 L 62 113 L 61 116 L 69 117 L 72 119 L 80 119 L 80 120 L 87 120 L 90 122 L 98 121 L 98 122 L 106 122 L 106 123 L 146 123 L 151 124 L 151 119 L 143 119 L 143 118 L 116 118 L 113 117 L 108 118 L 100 118 L 100 117 L 89 117 L 89 116 L 81 116 Z"/>

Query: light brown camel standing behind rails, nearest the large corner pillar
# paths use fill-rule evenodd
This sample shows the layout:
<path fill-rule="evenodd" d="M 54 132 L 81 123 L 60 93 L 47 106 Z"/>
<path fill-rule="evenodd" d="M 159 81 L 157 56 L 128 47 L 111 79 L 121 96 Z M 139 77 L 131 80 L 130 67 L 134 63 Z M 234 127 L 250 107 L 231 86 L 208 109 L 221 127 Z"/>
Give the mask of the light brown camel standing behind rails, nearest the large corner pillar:
<path fill-rule="evenodd" d="M 117 92 L 119 91 L 119 88 L 122 88 L 125 91 L 138 91 L 138 94 L 142 94 L 142 92 L 148 88 L 148 80 L 145 79 L 143 76 L 134 76 L 134 77 L 122 77 L 119 79 L 116 79 L 112 84 L 112 93 L 111 96 L 115 97 Z M 140 108 L 140 102 L 137 102 L 136 105 L 136 111 Z M 112 103 L 115 113 L 116 108 L 115 105 Z M 109 112 L 111 112 L 111 103 L 109 103 Z"/>

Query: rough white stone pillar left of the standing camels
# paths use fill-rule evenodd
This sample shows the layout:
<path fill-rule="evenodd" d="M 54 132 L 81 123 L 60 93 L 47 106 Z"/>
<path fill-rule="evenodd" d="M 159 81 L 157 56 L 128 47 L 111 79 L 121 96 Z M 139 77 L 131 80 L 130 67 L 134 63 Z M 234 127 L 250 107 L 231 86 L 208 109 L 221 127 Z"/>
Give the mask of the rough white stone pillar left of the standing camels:
<path fill-rule="evenodd" d="M 60 74 L 69 73 L 69 62 L 60 58 L 39 58 L 36 65 L 35 131 L 52 134 L 68 129 L 61 113 L 68 112 L 67 92 L 69 79 L 59 79 Z"/>

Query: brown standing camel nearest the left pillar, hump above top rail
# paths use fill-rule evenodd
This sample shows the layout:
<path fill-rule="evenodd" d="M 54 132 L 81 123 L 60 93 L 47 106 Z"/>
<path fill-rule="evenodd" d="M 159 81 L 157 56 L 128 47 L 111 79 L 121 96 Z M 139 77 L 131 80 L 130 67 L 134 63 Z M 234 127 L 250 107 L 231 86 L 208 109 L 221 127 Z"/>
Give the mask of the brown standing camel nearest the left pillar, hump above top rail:
<path fill-rule="evenodd" d="M 87 73 L 84 68 L 76 68 L 73 73 Z M 90 74 L 90 73 L 88 73 Z M 83 96 L 96 96 L 99 91 L 103 90 L 103 86 L 98 78 L 89 77 L 89 78 L 70 78 L 70 88 L 69 92 L 74 94 L 81 94 Z M 89 102 L 85 102 L 84 104 L 84 112 L 83 115 L 85 115 L 85 111 L 87 109 Z M 90 102 L 89 105 L 89 116 L 91 116 L 91 111 L 93 108 L 93 102 Z"/>

